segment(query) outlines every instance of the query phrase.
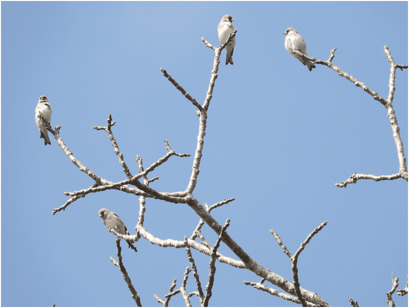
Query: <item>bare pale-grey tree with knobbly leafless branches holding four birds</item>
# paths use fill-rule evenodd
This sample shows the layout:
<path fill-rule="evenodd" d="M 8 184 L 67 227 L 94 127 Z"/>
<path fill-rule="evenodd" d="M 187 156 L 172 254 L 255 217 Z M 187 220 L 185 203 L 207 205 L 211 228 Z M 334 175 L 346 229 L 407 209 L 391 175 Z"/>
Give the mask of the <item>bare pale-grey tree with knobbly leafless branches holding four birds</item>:
<path fill-rule="evenodd" d="M 118 253 L 117 253 L 118 261 L 113 259 L 112 257 L 111 257 L 111 261 L 113 262 L 115 266 L 117 266 L 121 270 L 124 280 L 126 281 L 128 288 L 132 294 L 132 298 L 135 300 L 136 305 L 139 307 L 142 306 L 141 299 L 137 295 L 136 289 L 134 288 L 132 284 L 131 278 L 129 277 L 124 267 L 124 264 L 122 263 L 120 239 L 124 239 L 129 242 L 137 242 L 139 239 L 143 238 L 143 239 L 148 240 L 150 243 L 161 246 L 161 247 L 184 248 L 186 250 L 187 259 L 190 263 L 190 268 L 188 267 L 185 269 L 184 279 L 181 283 L 180 288 L 175 290 L 176 278 L 174 278 L 171 283 L 169 293 L 164 295 L 163 299 L 157 295 L 154 295 L 157 301 L 160 304 L 162 304 L 164 307 L 167 307 L 169 305 L 169 301 L 172 296 L 175 296 L 179 293 L 182 295 L 186 306 L 191 306 L 190 297 L 198 296 L 201 306 L 207 307 L 209 305 L 209 300 L 212 294 L 213 282 L 215 279 L 216 260 L 218 260 L 221 263 L 228 264 L 235 268 L 247 269 L 249 271 L 252 271 L 253 273 L 255 273 L 261 278 L 259 282 L 243 281 L 245 285 L 253 286 L 254 288 L 268 292 L 271 295 L 281 297 L 284 300 L 292 301 L 297 304 L 301 304 L 303 307 L 314 307 L 314 306 L 329 307 L 329 304 L 327 304 L 315 292 L 303 289 L 300 286 L 299 277 L 298 277 L 298 268 L 297 268 L 297 262 L 298 262 L 301 252 L 305 249 L 306 245 L 312 239 L 312 237 L 315 234 L 317 234 L 319 231 L 321 231 L 327 225 L 327 221 L 323 222 L 320 226 L 316 227 L 313 231 L 311 231 L 309 235 L 307 235 L 306 240 L 303 243 L 301 243 L 300 248 L 294 253 L 294 255 L 290 253 L 290 251 L 286 248 L 286 246 L 284 245 L 284 243 L 281 241 L 280 237 L 278 236 L 277 232 L 275 232 L 274 230 L 270 230 L 275 240 L 277 241 L 278 245 L 281 247 L 283 252 L 288 256 L 288 258 L 291 261 L 293 281 L 290 282 L 286 280 L 284 277 L 279 276 L 278 274 L 274 273 L 270 269 L 267 269 L 261 264 L 259 264 L 255 259 L 253 259 L 250 255 L 248 255 L 241 246 L 239 246 L 236 243 L 236 241 L 227 232 L 227 229 L 229 228 L 230 223 L 231 223 L 230 219 L 228 219 L 222 226 L 211 215 L 212 210 L 222 205 L 225 205 L 229 202 L 234 201 L 235 200 L 234 198 L 222 200 L 211 206 L 208 206 L 206 203 L 204 203 L 204 206 L 203 206 L 199 202 L 199 200 L 196 199 L 194 196 L 194 190 L 197 185 L 199 169 L 200 169 L 201 159 L 203 155 L 202 152 L 204 148 L 204 139 L 205 139 L 205 133 L 206 133 L 207 111 L 209 110 L 209 107 L 210 107 L 213 87 L 215 85 L 216 78 L 218 77 L 217 73 L 218 73 L 218 68 L 220 64 L 220 61 L 219 61 L 220 54 L 221 54 L 221 51 L 225 48 L 225 46 L 231 41 L 231 39 L 233 39 L 236 36 L 237 31 L 238 30 L 236 29 L 233 35 L 230 35 L 230 37 L 226 40 L 226 42 L 224 42 L 222 46 L 219 48 L 216 48 L 210 42 L 208 42 L 205 38 L 202 38 L 202 41 L 205 43 L 205 46 L 208 48 L 211 48 L 215 52 L 210 82 L 209 82 L 208 90 L 206 92 L 205 101 L 202 105 L 199 104 L 194 98 L 192 98 L 185 91 L 185 89 L 182 86 L 180 86 L 168 74 L 168 72 L 165 69 L 161 68 L 161 72 L 163 73 L 163 76 L 168 78 L 168 80 L 176 87 L 176 89 L 178 89 L 182 93 L 182 95 L 184 95 L 197 108 L 195 112 L 196 112 L 196 115 L 199 116 L 199 133 L 197 137 L 198 142 L 197 142 L 197 147 L 196 147 L 194 159 L 193 159 L 192 173 L 190 176 L 188 186 L 186 190 L 183 192 L 158 192 L 155 189 L 152 189 L 151 187 L 149 187 L 150 183 L 158 180 L 158 177 L 149 178 L 149 174 L 153 170 L 155 170 L 156 168 L 158 168 L 159 166 L 167 162 L 171 156 L 177 156 L 181 158 L 190 156 L 190 154 L 181 154 L 181 153 L 177 153 L 173 151 L 167 140 L 165 140 L 165 147 L 168 153 L 164 155 L 163 157 L 158 158 L 156 162 L 154 162 L 147 168 L 143 166 L 142 158 L 139 157 L 138 155 L 136 156 L 136 161 L 139 165 L 139 173 L 136 175 L 133 175 L 131 174 L 126 164 L 123 154 L 121 154 L 119 150 L 119 146 L 113 135 L 112 126 L 115 125 L 115 121 L 112 121 L 112 116 L 111 115 L 108 116 L 106 126 L 93 126 L 94 129 L 104 130 L 108 134 L 108 138 L 114 148 L 114 152 L 118 156 L 119 163 L 122 166 L 122 169 L 127 177 L 126 180 L 123 180 L 120 182 L 111 182 L 109 180 L 106 180 L 98 176 L 88 167 L 84 166 L 78 159 L 75 158 L 75 156 L 68 150 L 68 147 L 65 145 L 62 138 L 59 135 L 61 126 L 57 126 L 54 131 L 51 128 L 49 123 L 45 123 L 47 126 L 47 129 L 54 135 L 59 146 L 63 149 L 65 154 L 70 158 L 71 162 L 74 163 L 79 168 L 79 170 L 86 173 L 89 177 L 91 177 L 95 181 L 95 183 L 89 188 L 86 188 L 80 191 L 76 191 L 76 192 L 65 192 L 65 194 L 69 196 L 70 198 L 63 206 L 53 209 L 52 211 L 53 215 L 55 215 L 56 213 L 62 210 L 65 210 L 65 208 L 67 208 L 68 205 L 70 205 L 72 202 L 76 201 L 77 199 L 81 197 L 85 197 L 87 194 L 90 194 L 93 192 L 102 192 L 106 190 L 118 190 L 118 191 L 132 193 L 136 196 L 139 196 L 139 217 L 138 217 L 138 222 L 136 224 L 136 234 L 124 235 L 124 234 L 119 234 L 116 231 L 110 229 L 112 233 L 118 236 L 118 239 L 116 241 L 116 245 L 118 248 Z M 310 61 L 313 61 L 314 64 L 321 64 L 321 65 L 327 66 L 333 69 L 334 71 L 336 71 L 340 76 L 345 77 L 351 82 L 353 82 L 356 86 L 361 87 L 364 91 L 366 91 L 371 96 L 373 96 L 376 101 L 380 102 L 381 104 L 385 106 L 387 110 L 387 116 L 391 122 L 391 127 L 393 130 L 393 138 L 395 140 L 397 150 L 398 150 L 399 172 L 396 174 L 388 175 L 388 176 L 374 176 L 374 175 L 354 173 L 345 182 L 341 182 L 341 184 L 336 184 L 338 187 L 346 187 L 348 184 L 356 183 L 357 180 L 360 180 L 360 179 L 372 179 L 375 181 L 381 181 L 381 180 L 394 180 L 398 178 L 403 178 L 406 181 L 408 181 L 408 170 L 407 170 L 406 158 L 404 154 L 403 142 L 399 135 L 399 126 L 398 126 L 398 122 L 395 116 L 395 112 L 392 107 L 393 96 L 394 96 L 394 91 L 395 91 L 394 81 L 396 77 L 396 74 L 395 74 L 396 69 L 398 68 L 401 70 L 403 68 L 407 69 L 408 66 L 397 65 L 394 62 L 388 47 L 385 46 L 384 49 L 385 49 L 384 51 L 385 55 L 387 56 L 388 61 L 391 63 L 391 74 L 389 78 L 389 95 L 388 95 L 388 99 L 386 100 L 381 98 L 379 95 L 377 95 L 376 92 L 374 92 L 373 90 L 369 89 L 364 83 L 358 81 L 356 78 L 348 75 L 347 73 L 343 72 L 340 68 L 332 64 L 332 60 L 335 57 L 336 48 L 331 50 L 331 56 L 327 61 L 317 60 L 315 58 L 309 58 L 306 55 L 299 53 L 301 56 L 306 57 Z M 296 50 L 294 50 L 294 52 L 298 53 L 298 51 Z M 44 121 L 44 118 L 41 115 L 40 117 L 42 118 L 42 121 Z M 140 179 L 142 179 L 142 181 Z M 144 213 L 145 213 L 146 198 L 154 198 L 154 199 L 159 199 L 165 202 L 183 203 L 183 204 L 189 205 L 199 216 L 198 225 L 195 228 L 195 230 L 191 231 L 192 232 L 191 236 L 189 238 L 185 236 L 184 240 L 175 240 L 175 239 L 165 240 L 165 239 L 155 237 L 152 233 L 150 233 L 144 227 Z M 204 224 L 207 224 L 218 235 L 218 239 L 216 243 L 214 244 L 214 246 L 212 246 L 210 243 L 206 241 L 205 235 L 202 234 L 201 232 L 201 229 L 204 226 Z M 234 222 L 232 224 L 234 226 Z M 200 239 L 200 242 L 196 241 L 197 238 Z M 219 253 L 217 250 L 221 242 L 223 242 L 227 247 L 229 247 L 229 249 L 237 256 L 238 259 L 233 259 L 233 258 L 224 256 L 221 253 Z M 206 283 L 205 289 L 203 289 L 202 287 L 203 281 L 201 281 L 199 277 L 197 266 L 195 264 L 195 260 L 191 253 L 192 248 L 210 257 L 209 274 L 207 277 L 207 283 Z M 197 291 L 192 292 L 192 293 L 187 293 L 186 284 L 187 284 L 190 272 L 192 272 L 193 274 Z M 265 281 L 271 282 L 273 285 L 275 285 L 276 287 L 280 288 L 282 291 L 288 294 L 285 294 L 285 293 L 282 293 L 281 291 L 277 291 L 273 288 L 267 287 L 264 284 Z M 396 287 L 397 285 L 394 287 L 394 290 L 396 289 Z M 390 295 L 390 298 L 391 298 L 391 295 Z M 392 300 L 390 299 L 390 301 Z M 353 305 L 356 305 L 355 307 L 358 307 L 357 306 L 358 304 L 353 302 L 352 299 L 350 299 L 350 303 L 351 305 L 353 303 Z"/>

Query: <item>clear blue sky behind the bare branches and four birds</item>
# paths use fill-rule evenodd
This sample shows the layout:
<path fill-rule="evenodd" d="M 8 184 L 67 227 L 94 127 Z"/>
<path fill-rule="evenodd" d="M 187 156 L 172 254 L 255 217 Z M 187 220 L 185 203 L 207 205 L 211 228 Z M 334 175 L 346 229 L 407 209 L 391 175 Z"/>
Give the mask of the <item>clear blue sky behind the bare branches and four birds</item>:
<path fill-rule="evenodd" d="M 92 129 L 116 121 L 114 136 L 131 172 L 172 150 L 194 155 L 195 107 L 162 76 L 167 72 L 203 104 L 217 25 L 230 14 L 239 29 L 234 65 L 225 51 L 216 79 L 194 196 L 209 205 L 228 233 L 257 262 L 292 281 L 291 263 L 270 229 L 302 252 L 301 286 L 331 306 L 386 306 L 391 274 L 408 274 L 408 183 L 334 184 L 354 172 L 398 172 L 385 108 L 329 68 L 307 67 L 284 49 L 282 33 L 297 29 L 308 55 L 327 60 L 387 98 L 390 65 L 408 64 L 408 2 L 1 2 L 1 306 L 135 306 L 119 269 L 115 236 L 98 211 L 118 214 L 135 234 L 138 197 L 93 193 L 52 215 L 91 178 L 71 163 L 54 137 L 44 147 L 34 121 L 40 95 L 51 125 L 74 156 L 97 175 L 126 179 L 107 134 Z M 408 70 L 396 72 L 394 110 L 408 155 Z M 193 156 L 171 157 L 150 177 L 160 192 L 184 191 Z M 144 226 L 156 237 L 182 240 L 199 222 L 184 204 L 148 199 Z M 214 245 L 216 235 L 202 229 Z M 138 253 L 121 241 L 123 262 L 143 306 L 168 292 L 189 266 L 184 249 L 141 239 Z M 235 255 L 222 244 L 219 252 Z M 207 256 L 193 250 L 202 285 Z M 237 259 L 237 257 L 235 257 Z M 254 273 L 216 263 L 211 306 L 295 306 L 242 283 Z M 274 287 L 266 283 L 269 287 Z M 196 290 L 189 276 L 187 291 Z M 408 297 L 394 295 L 397 306 Z M 197 299 L 192 299 L 199 306 Z M 170 306 L 183 306 L 180 296 Z"/>

